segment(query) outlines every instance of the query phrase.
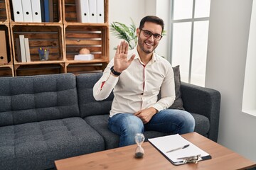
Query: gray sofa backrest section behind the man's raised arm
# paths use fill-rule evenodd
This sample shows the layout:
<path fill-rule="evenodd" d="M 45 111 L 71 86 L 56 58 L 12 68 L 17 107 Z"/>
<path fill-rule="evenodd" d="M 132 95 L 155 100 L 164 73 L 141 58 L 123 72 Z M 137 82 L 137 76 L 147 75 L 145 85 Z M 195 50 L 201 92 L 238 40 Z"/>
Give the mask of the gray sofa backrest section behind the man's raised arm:
<path fill-rule="evenodd" d="M 104 101 L 95 101 L 93 86 L 102 77 L 102 73 L 79 74 L 77 76 L 78 103 L 80 115 L 85 118 L 89 115 L 110 114 L 113 92 Z"/>

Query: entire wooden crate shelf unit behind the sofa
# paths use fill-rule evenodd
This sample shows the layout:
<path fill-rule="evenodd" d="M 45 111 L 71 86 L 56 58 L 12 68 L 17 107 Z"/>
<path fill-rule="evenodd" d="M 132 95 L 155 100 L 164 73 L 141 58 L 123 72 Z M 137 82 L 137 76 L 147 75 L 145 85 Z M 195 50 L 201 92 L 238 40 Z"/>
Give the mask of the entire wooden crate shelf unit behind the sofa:
<path fill-rule="evenodd" d="M 78 23 L 75 0 L 53 0 L 53 22 L 15 22 L 12 1 L 0 0 L 0 30 L 8 32 L 9 63 L 0 65 L 0 77 L 72 72 L 102 72 L 109 62 L 108 0 L 105 3 L 105 23 Z M 4 10 L 6 9 L 6 10 Z M 2 11 L 5 11 L 2 12 Z M 31 62 L 18 59 L 16 39 L 24 35 L 29 40 Z M 47 48 L 47 61 L 41 61 L 39 47 Z M 95 60 L 74 60 L 86 47 Z M 5 68 L 6 70 L 2 70 Z"/>

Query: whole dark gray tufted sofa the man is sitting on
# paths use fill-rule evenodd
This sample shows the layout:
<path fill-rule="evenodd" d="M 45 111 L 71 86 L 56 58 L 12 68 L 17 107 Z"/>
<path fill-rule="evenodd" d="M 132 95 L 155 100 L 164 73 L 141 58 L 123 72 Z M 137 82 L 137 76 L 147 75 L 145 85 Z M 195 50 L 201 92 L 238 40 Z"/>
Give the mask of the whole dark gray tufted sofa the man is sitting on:
<path fill-rule="evenodd" d="M 53 169 L 54 160 L 118 147 L 107 129 L 113 94 L 105 101 L 92 95 L 101 75 L 0 77 L 0 169 Z M 219 92 L 185 83 L 181 91 L 195 131 L 216 141 Z"/>

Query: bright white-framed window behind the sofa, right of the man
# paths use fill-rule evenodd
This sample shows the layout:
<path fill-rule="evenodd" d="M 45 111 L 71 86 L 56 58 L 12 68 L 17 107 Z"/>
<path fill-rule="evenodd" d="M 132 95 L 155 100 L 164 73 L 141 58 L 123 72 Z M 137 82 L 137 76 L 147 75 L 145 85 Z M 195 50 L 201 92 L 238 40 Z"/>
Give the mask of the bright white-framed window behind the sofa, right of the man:
<path fill-rule="evenodd" d="M 210 0 L 171 0 L 171 64 L 181 81 L 205 85 Z"/>

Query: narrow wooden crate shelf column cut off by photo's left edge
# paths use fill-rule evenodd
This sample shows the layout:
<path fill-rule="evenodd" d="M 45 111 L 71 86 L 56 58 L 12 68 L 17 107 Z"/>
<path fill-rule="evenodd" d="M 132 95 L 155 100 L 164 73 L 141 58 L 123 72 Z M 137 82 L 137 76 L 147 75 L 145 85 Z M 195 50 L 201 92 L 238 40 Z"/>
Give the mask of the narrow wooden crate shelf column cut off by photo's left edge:
<path fill-rule="evenodd" d="M 6 35 L 6 52 L 7 62 L 0 63 L 0 77 L 14 77 L 14 64 L 11 47 L 11 32 L 9 26 L 9 13 L 7 12 L 8 4 L 0 0 L 0 30 L 4 30 Z"/>

